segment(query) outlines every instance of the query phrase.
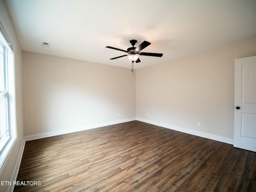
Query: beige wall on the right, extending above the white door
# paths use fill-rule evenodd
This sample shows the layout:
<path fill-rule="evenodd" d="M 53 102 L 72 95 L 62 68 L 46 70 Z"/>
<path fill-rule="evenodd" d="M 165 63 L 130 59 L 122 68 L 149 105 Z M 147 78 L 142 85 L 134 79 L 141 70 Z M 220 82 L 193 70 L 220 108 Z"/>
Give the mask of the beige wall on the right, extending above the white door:
<path fill-rule="evenodd" d="M 136 117 L 233 139 L 234 59 L 254 55 L 256 39 L 136 70 Z"/>

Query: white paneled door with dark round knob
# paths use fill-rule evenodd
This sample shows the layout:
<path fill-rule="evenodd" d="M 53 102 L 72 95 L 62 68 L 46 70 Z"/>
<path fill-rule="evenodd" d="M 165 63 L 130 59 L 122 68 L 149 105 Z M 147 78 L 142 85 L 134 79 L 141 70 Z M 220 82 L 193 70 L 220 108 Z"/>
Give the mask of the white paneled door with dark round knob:
<path fill-rule="evenodd" d="M 234 147 L 256 152 L 256 56 L 235 60 Z"/>

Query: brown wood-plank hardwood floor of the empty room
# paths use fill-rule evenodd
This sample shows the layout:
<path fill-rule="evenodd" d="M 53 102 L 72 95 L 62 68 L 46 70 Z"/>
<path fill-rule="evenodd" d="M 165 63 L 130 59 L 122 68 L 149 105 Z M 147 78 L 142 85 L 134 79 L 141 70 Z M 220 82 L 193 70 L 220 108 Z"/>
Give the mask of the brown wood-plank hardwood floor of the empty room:
<path fill-rule="evenodd" d="M 17 181 L 40 185 L 15 192 L 255 192 L 256 153 L 132 121 L 26 142 Z"/>

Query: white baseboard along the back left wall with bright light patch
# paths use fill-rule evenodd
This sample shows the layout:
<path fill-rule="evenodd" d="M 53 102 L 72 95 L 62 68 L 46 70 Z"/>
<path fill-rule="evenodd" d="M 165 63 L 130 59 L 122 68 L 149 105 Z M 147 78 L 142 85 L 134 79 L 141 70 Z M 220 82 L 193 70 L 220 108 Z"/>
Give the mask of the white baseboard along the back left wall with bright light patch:
<path fill-rule="evenodd" d="M 134 121 L 134 120 L 136 120 L 135 117 L 128 118 L 128 119 L 122 119 L 122 120 L 116 120 L 116 121 L 110 121 L 110 122 L 104 122 L 104 123 L 99 123 L 99 124 L 86 125 L 86 126 L 67 129 L 67 130 L 59 130 L 59 131 L 54 131 L 54 132 L 35 134 L 35 135 L 26 136 L 25 141 L 46 138 L 46 137 L 51 137 L 51 136 L 56 136 L 56 135 L 62 135 L 62 134 L 67 134 L 67 133 L 72 133 L 72 132 L 77 132 L 77 131 L 83 131 L 83 130 L 98 128 L 98 127 L 103 127 L 103 126 L 108 126 L 108 125 L 114 125 L 114 124 L 118 124 L 118 123 L 124 123 L 124 122 L 128 122 L 128 121 Z"/>

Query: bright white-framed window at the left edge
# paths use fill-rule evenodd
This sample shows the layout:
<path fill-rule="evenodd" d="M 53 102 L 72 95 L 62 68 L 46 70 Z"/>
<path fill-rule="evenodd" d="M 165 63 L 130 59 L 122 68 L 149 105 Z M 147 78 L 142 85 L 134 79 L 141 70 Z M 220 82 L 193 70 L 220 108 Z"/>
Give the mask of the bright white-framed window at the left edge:
<path fill-rule="evenodd" d="M 13 46 L 0 17 L 0 174 L 16 141 Z"/>

